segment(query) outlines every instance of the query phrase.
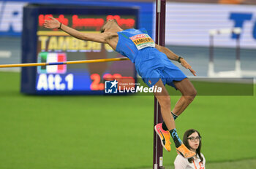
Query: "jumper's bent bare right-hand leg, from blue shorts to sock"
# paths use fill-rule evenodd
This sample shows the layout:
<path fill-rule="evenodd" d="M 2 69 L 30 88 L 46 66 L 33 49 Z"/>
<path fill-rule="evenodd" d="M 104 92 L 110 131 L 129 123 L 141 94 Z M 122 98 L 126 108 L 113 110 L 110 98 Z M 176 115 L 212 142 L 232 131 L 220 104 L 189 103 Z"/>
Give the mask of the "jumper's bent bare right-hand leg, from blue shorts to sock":
<path fill-rule="evenodd" d="M 182 96 L 173 108 L 173 114 L 180 115 L 197 95 L 197 90 L 189 79 L 183 79 L 179 82 L 174 82 L 176 88 L 181 92 Z"/>

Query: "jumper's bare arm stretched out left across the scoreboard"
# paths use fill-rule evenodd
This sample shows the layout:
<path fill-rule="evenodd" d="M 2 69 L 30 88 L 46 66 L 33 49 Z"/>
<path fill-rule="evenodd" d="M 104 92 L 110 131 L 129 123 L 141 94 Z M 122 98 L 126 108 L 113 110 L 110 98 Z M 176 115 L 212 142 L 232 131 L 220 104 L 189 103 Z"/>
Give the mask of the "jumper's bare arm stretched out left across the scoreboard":
<path fill-rule="evenodd" d="M 61 26 L 62 31 L 66 32 L 67 34 L 77 39 L 105 43 L 105 44 L 108 43 L 110 44 L 111 47 L 113 47 L 114 50 L 116 50 L 116 45 L 115 45 L 116 41 L 111 42 L 111 39 L 113 39 L 113 37 L 118 36 L 118 34 L 116 33 L 105 32 L 102 34 L 93 34 L 93 33 L 84 34 L 84 33 L 81 33 L 80 31 L 70 28 L 67 25 L 61 24 L 59 20 L 56 20 L 53 17 L 50 17 L 50 19 L 51 20 L 45 20 L 45 23 L 44 23 L 45 28 L 53 29 L 53 28 L 60 28 Z"/>

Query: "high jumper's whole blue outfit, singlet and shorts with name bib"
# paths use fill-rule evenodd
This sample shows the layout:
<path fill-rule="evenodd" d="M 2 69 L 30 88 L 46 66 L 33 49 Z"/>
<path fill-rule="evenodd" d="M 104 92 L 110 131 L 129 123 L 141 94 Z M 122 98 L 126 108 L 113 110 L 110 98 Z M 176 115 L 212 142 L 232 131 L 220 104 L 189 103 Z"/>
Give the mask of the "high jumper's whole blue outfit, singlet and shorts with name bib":
<path fill-rule="evenodd" d="M 162 79 L 164 84 L 175 87 L 173 81 L 187 78 L 165 53 L 155 48 L 155 43 L 145 28 L 131 28 L 118 32 L 116 52 L 135 63 L 136 71 L 149 87 L 156 84 L 159 79 Z"/>

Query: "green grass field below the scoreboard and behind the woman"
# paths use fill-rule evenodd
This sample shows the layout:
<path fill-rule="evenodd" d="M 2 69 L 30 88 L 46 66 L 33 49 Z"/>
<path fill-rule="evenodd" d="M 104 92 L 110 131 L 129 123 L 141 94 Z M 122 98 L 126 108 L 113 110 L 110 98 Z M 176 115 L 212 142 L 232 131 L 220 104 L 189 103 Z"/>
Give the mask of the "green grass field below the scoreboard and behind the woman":
<path fill-rule="evenodd" d="M 176 128 L 181 138 L 200 132 L 206 168 L 256 168 L 255 110 L 255 92 L 198 95 Z M 0 168 L 151 168 L 153 118 L 153 96 L 23 95 L 20 74 L 0 72 Z M 164 150 L 166 168 L 172 149 Z"/>

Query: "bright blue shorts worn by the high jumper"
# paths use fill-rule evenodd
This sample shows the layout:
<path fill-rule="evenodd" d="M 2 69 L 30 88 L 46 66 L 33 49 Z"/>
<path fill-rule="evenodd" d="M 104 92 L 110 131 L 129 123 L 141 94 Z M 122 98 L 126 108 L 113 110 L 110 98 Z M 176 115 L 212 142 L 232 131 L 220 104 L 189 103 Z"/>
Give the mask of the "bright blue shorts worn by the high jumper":
<path fill-rule="evenodd" d="M 138 57 L 139 59 L 135 60 L 135 68 L 148 87 L 154 86 L 159 79 L 162 79 L 164 85 L 168 84 L 176 89 L 173 81 L 187 78 L 164 53 L 155 48 L 143 49 Z"/>

